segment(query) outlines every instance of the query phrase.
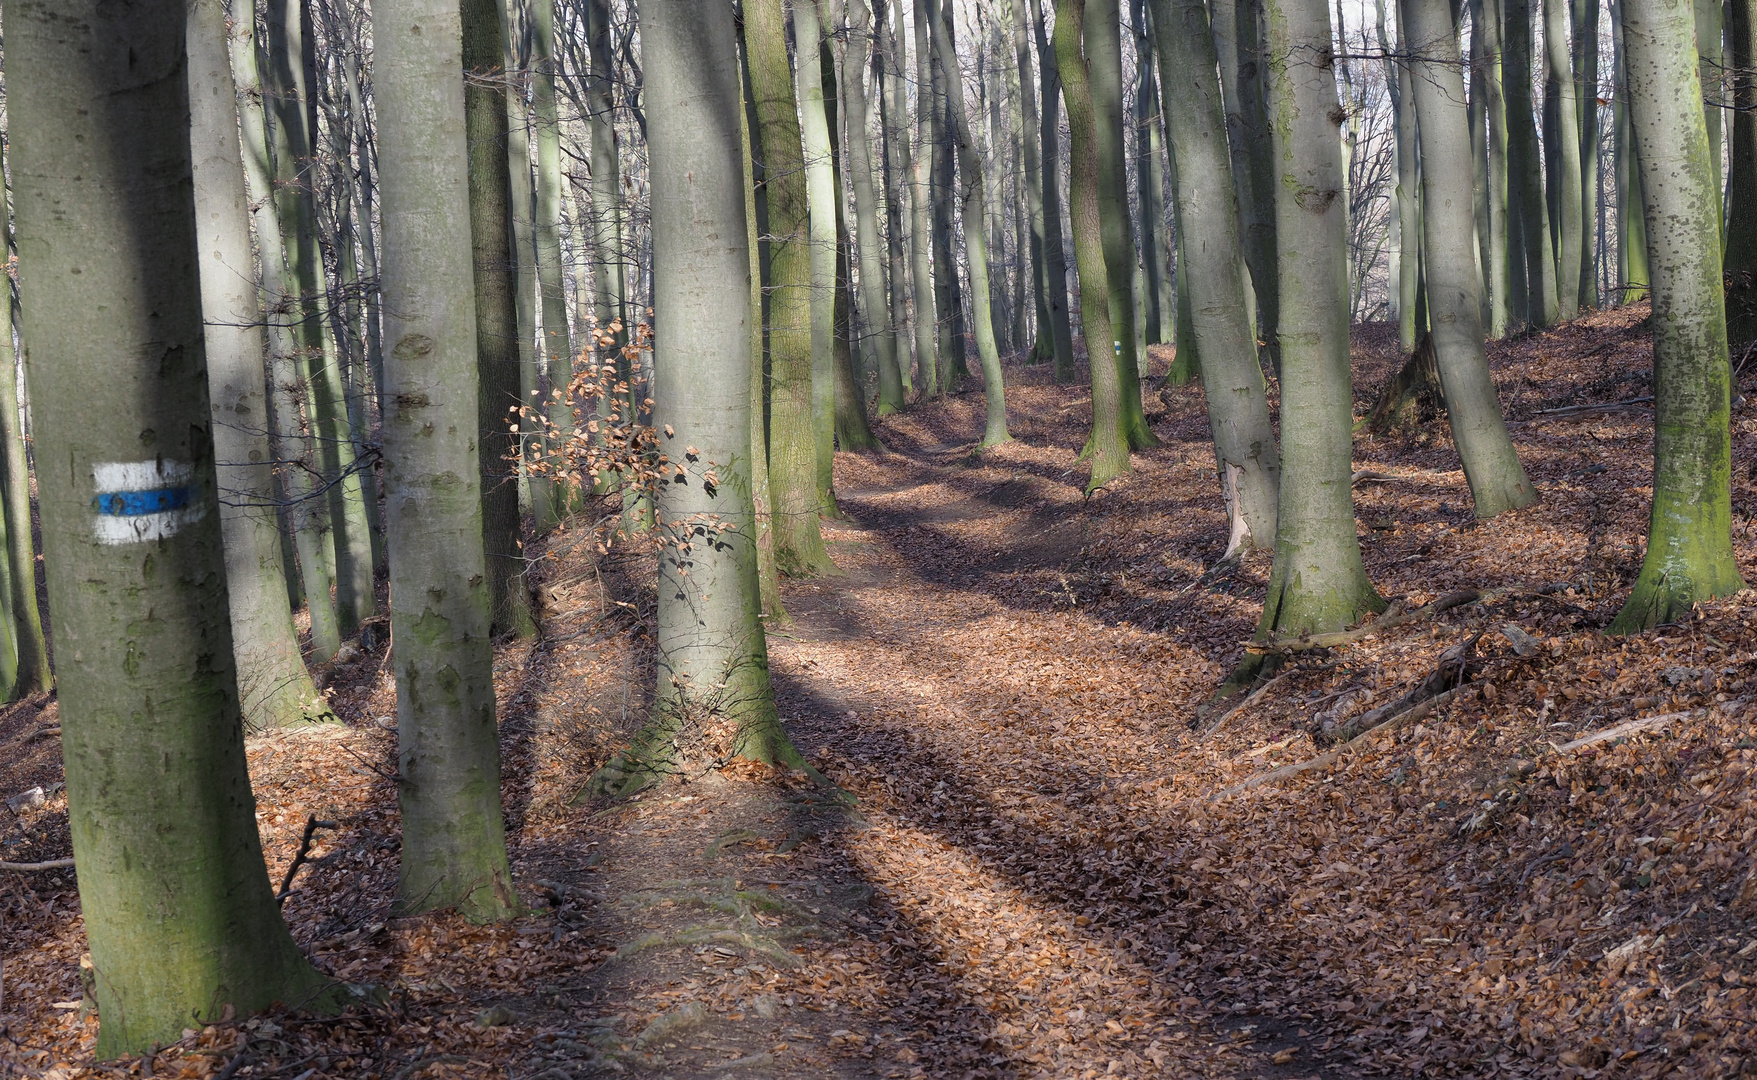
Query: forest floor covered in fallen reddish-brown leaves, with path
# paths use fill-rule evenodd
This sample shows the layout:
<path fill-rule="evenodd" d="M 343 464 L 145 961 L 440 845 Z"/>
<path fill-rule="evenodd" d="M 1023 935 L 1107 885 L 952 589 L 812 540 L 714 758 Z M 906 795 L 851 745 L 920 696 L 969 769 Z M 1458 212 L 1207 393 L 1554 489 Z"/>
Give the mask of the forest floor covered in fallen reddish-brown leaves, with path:
<path fill-rule="evenodd" d="M 1197 709 L 1242 655 L 1269 558 L 1218 562 L 1198 388 L 1149 399 L 1163 446 L 1091 497 L 1089 395 L 1042 369 L 1009 369 L 1017 441 L 984 453 L 980 393 L 886 420 L 886 453 L 836 462 L 843 572 L 785 583 L 791 622 L 770 634 L 787 729 L 852 804 L 745 771 L 573 806 L 645 715 L 652 574 L 562 536 L 539 569 L 543 637 L 495 666 L 527 917 L 388 915 L 395 732 L 367 653 L 332 673 L 346 725 L 253 738 L 249 757 L 276 882 L 307 815 L 339 825 L 286 904 L 295 936 L 388 1003 L 95 1064 L 72 878 L 0 875 L 0 1075 L 1750 1071 L 1750 594 L 1602 634 L 1646 530 L 1652 414 L 1629 402 L 1650 393 L 1643 314 L 1495 346 L 1536 508 L 1476 522 L 1444 421 L 1360 437 L 1381 594 L 1486 595 L 1302 653 L 1237 713 Z M 1360 413 L 1397 364 L 1393 330 L 1356 330 Z M 1757 404 L 1736 406 L 1746 574 L 1753 462 Z M 1472 639 L 1472 678 L 1442 708 L 1320 757 L 1314 729 Z M 58 780 L 44 706 L 0 716 L 5 794 Z M 1618 727 L 1653 716 L 1673 718 Z M 0 857 L 67 853 L 63 796 L 12 817 Z"/>

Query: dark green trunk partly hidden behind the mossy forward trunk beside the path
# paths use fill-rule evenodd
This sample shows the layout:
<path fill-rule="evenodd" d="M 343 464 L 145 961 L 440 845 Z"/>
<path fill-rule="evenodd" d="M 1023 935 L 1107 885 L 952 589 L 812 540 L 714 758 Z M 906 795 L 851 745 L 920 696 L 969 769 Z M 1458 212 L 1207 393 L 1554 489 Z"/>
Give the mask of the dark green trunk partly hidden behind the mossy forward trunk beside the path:
<path fill-rule="evenodd" d="M 1140 404 L 1140 356 L 1135 349 L 1135 225 L 1128 212 L 1128 167 L 1123 148 L 1123 18 L 1119 0 L 1093 0 L 1082 25 L 1093 97 L 1098 153 L 1098 211 L 1103 260 L 1110 274 L 1110 335 L 1121 390 L 1123 432 L 1130 450 L 1158 446 Z M 1082 293 L 1084 297 L 1084 293 Z M 1082 299 L 1084 304 L 1084 299 Z M 1096 358 L 1086 342 L 1088 360 Z"/>

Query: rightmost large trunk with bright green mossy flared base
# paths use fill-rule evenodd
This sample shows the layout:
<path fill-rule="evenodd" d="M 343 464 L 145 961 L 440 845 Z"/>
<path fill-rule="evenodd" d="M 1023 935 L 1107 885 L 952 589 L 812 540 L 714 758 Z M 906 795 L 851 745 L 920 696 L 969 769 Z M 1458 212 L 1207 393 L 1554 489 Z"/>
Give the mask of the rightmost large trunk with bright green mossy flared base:
<path fill-rule="evenodd" d="M 1720 292 L 1720 177 L 1708 153 L 1688 0 L 1622 0 L 1629 119 L 1653 272 L 1653 513 L 1611 634 L 1745 588 L 1732 560 L 1732 432 Z"/>

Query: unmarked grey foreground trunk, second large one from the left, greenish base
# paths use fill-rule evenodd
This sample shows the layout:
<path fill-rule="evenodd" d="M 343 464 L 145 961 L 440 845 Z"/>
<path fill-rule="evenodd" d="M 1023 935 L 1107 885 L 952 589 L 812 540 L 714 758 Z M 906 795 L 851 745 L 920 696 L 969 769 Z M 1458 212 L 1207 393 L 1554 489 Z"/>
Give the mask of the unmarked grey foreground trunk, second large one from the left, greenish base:
<path fill-rule="evenodd" d="M 372 5 L 385 228 L 385 522 L 397 676 L 397 908 L 518 910 L 483 580 L 476 304 L 457 0 Z"/>

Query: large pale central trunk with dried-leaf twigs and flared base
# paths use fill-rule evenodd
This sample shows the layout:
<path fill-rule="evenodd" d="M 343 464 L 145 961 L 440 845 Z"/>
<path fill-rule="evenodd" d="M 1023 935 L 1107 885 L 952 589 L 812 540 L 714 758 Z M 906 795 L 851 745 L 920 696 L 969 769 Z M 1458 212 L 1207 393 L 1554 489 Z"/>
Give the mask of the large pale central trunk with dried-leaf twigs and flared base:
<path fill-rule="evenodd" d="M 748 7 L 747 7 L 748 11 Z M 748 25 L 747 25 L 748 32 Z M 643 0 L 652 165 L 654 425 L 694 476 L 661 486 L 654 718 L 599 790 L 733 759 L 803 767 L 775 713 L 750 500 L 750 297 L 738 56 L 722 4 Z M 815 61 L 812 39 L 801 60 Z"/>

